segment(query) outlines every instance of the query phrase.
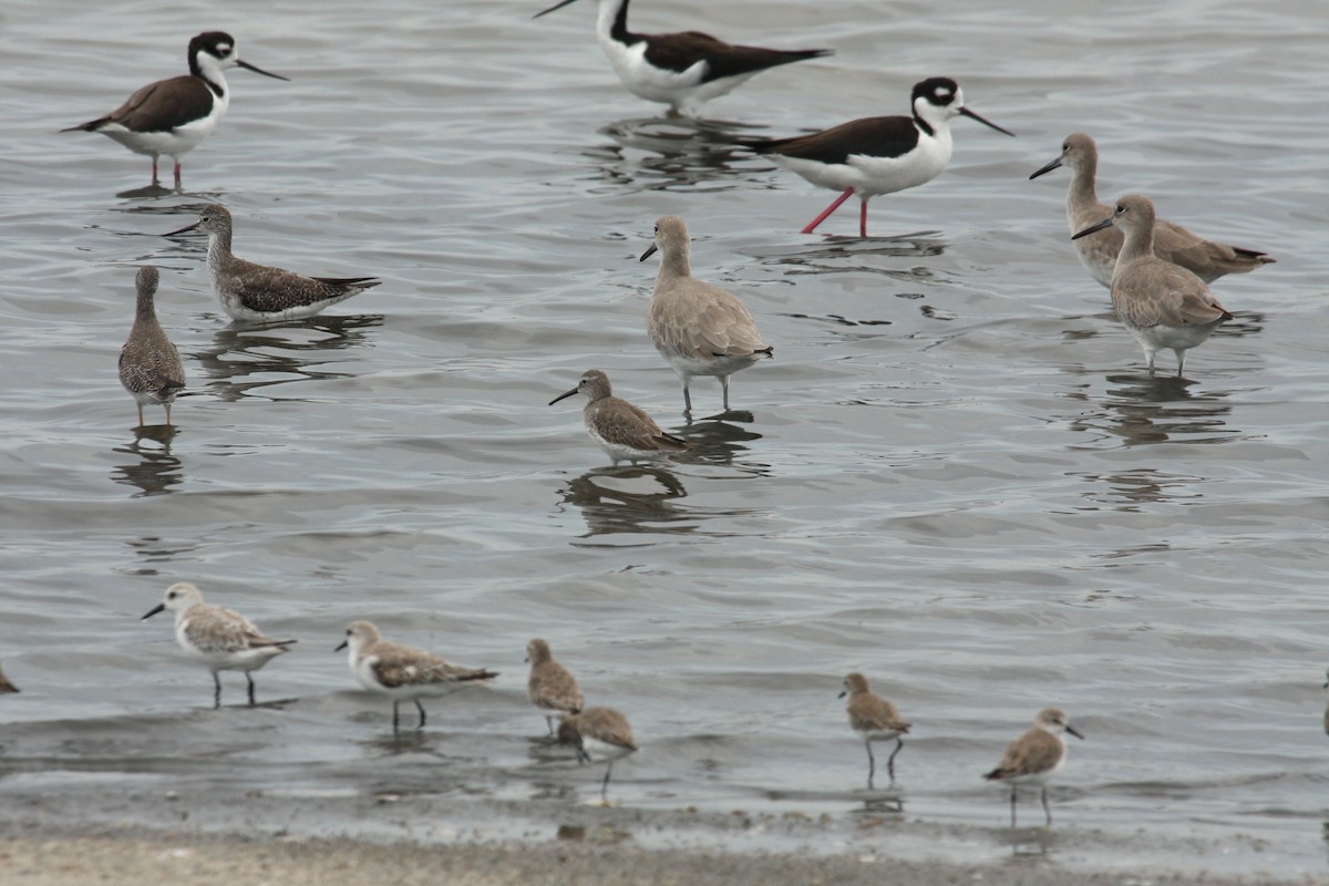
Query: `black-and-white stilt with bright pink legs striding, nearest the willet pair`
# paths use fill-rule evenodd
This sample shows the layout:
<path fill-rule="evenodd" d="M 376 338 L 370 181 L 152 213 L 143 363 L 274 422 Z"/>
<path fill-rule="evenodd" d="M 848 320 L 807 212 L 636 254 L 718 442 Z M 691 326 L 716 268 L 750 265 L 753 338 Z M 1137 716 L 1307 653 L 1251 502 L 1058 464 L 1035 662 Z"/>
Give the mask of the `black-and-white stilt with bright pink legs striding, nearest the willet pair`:
<path fill-rule="evenodd" d="M 779 158 L 820 187 L 843 190 L 821 215 L 803 228 L 811 234 L 852 194 L 863 201 L 859 235 L 868 235 L 868 199 L 930 182 L 950 162 L 950 120 L 971 117 L 999 133 L 1015 133 L 965 108 L 954 80 L 932 77 L 913 89 L 912 117 L 865 117 L 809 135 L 742 139 L 759 154 Z"/>

